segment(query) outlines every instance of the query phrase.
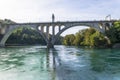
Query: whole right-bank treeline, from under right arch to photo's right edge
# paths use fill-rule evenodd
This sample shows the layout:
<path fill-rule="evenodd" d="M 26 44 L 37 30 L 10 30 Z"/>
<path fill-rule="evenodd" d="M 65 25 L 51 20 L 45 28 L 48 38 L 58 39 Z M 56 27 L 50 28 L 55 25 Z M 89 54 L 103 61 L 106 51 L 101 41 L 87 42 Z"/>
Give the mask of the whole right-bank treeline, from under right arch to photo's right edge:
<path fill-rule="evenodd" d="M 68 46 L 111 47 L 120 43 L 120 22 L 115 22 L 104 34 L 93 29 L 85 29 L 75 35 L 66 35 L 63 40 Z"/>

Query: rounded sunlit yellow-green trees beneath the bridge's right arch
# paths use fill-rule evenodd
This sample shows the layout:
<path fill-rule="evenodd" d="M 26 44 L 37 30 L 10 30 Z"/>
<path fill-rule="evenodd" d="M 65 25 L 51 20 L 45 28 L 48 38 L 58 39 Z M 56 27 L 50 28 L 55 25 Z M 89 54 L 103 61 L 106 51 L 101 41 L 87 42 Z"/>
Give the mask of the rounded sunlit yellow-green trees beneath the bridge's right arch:
<path fill-rule="evenodd" d="M 63 43 L 65 45 L 104 47 L 108 45 L 107 39 L 99 31 L 89 28 L 77 32 L 75 35 L 66 35 Z"/>

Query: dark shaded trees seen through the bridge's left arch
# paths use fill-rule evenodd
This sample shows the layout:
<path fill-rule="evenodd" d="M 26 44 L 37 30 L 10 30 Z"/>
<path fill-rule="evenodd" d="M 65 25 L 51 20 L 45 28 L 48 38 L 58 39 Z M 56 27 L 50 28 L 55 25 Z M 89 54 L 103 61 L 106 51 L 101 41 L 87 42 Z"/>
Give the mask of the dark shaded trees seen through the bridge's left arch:
<path fill-rule="evenodd" d="M 32 28 L 18 28 L 8 38 L 7 44 L 46 44 L 42 36 Z"/>

